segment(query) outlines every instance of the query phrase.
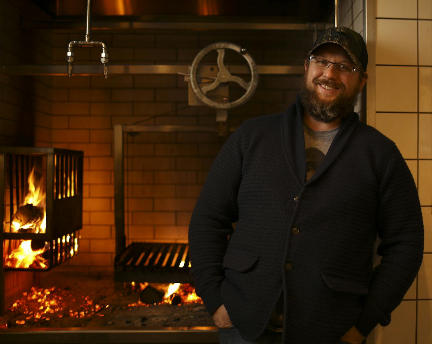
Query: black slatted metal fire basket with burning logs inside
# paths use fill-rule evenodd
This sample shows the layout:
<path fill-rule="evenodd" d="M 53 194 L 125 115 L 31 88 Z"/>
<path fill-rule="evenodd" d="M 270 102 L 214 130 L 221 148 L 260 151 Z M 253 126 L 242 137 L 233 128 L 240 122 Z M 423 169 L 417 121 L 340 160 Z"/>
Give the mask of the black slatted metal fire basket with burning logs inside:
<path fill-rule="evenodd" d="M 83 225 L 83 152 L 1 147 L 0 199 L 3 305 L 6 271 L 49 271 L 77 254 L 77 231 Z M 25 254 L 34 259 L 24 260 Z"/>

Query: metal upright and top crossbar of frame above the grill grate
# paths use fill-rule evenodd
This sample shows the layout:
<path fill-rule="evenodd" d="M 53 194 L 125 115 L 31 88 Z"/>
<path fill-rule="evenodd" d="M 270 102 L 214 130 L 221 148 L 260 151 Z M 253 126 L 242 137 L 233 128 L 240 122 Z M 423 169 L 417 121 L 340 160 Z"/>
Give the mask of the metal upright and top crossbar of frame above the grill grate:
<path fill-rule="evenodd" d="M 123 133 L 144 132 L 209 132 L 218 133 L 217 127 L 187 125 L 114 125 L 114 218 L 115 218 L 115 256 L 126 248 L 124 233 L 124 162 Z"/>

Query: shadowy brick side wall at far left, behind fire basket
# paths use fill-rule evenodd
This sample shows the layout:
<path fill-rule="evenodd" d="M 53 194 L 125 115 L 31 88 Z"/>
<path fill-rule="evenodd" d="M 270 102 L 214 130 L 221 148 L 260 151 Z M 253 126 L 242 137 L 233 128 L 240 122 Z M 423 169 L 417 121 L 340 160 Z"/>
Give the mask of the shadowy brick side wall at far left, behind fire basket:
<path fill-rule="evenodd" d="M 51 62 L 51 34 L 21 29 L 31 15 L 44 17 L 22 1 L 0 0 L 0 65 Z M 0 74 L 0 146 L 51 145 L 51 91 L 49 78 Z M 33 282 L 31 272 L 6 273 L 6 305 Z"/>

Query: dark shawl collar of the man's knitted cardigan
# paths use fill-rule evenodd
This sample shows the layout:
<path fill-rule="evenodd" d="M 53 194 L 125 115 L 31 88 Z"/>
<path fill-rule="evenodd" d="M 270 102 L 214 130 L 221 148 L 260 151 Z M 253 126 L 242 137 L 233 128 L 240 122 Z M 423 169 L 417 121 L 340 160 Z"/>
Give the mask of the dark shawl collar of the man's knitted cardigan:
<path fill-rule="evenodd" d="M 297 95 L 296 102 L 285 112 L 283 117 L 283 135 L 285 149 L 289 163 L 295 171 L 295 176 L 301 185 L 309 185 L 317 180 L 328 167 L 336 160 L 343 151 L 349 138 L 354 133 L 359 124 L 359 115 L 352 112 L 347 115 L 334 137 L 323 162 L 314 173 L 311 179 L 306 182 L 306 157 L 305 157 L 305 137 L 303 134 L 303 105 L 300 102 L 300 95 Z"/>

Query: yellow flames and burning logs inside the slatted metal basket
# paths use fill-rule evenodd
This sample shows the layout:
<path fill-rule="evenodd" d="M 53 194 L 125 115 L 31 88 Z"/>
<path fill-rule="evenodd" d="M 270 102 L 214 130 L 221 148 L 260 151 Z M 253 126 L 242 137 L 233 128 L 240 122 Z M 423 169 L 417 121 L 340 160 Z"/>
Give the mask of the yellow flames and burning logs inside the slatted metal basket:
<path fill-rule="evenodd" d="M 29 192 L 21 206 L 17 206 L 16 213 L 12 216 L 11 230 L 15 233 L 45 233 L 47 221 L 46 193 L 43 190 L 43 178 L 36 178 L 34 167 L 27 182 Z M 22 240 L 19 247 L 6 257 L 5 264 L 10 268 L 46 269 L 48 268 L 48 260 L 42 257 L 45 246 L 44 242 L 36 242 L 32 245 L 32 240 Z"/>

